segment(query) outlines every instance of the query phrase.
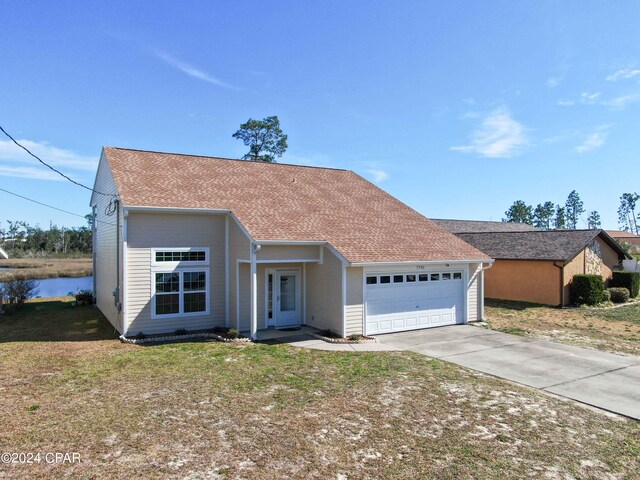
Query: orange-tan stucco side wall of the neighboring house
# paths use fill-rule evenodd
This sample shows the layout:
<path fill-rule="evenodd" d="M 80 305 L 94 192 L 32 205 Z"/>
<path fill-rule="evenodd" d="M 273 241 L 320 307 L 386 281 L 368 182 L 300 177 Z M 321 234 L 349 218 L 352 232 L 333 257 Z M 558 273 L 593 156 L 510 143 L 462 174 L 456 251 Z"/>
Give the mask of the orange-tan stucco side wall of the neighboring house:
<path fill-rule="evenodd" d="M 560 269 L 553 262 L 496 260 L 485 271 L 485 297 L 560 304 Z"/>

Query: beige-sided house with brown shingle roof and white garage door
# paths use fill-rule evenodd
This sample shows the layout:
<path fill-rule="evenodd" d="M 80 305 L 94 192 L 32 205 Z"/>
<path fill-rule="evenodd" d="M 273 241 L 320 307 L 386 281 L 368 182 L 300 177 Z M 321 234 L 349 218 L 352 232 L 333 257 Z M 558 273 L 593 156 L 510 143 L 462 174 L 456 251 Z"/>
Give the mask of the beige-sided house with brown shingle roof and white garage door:
<path fill-rule="evenodd" d="M 105 147 L 97 305 L 124 335 L 480 318 L 491 258 L 352 171 Z"/>

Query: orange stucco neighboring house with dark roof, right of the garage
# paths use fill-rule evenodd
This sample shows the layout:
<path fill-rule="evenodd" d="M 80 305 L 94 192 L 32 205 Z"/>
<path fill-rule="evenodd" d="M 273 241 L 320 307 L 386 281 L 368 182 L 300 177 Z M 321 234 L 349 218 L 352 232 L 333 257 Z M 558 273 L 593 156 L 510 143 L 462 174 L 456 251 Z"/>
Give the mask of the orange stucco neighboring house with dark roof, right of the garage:
<path fill-rule="evenodd" d="M 448 222 L 461 239 L 495 258 L 485 272 L 485 298 L 569 305 L 574 275 L 602 275 L 606 281 L 612 269 L 630 258 L 604 230 L 537 230 L 523 224 L 507 226 L 508 222 L 473 222 L 475 230 L 463 232 L 468 221 Z M 518 230 L 509 230 L 515 225 Z"/>

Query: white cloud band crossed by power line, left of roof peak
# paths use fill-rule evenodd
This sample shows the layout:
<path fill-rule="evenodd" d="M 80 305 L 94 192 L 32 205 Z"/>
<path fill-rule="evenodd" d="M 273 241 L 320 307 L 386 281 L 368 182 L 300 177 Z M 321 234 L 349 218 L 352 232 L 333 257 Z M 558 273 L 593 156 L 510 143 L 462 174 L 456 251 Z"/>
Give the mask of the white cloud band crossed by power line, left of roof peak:
<path fill-rule="evenodd" d="M 71 150 L 54 147 L 47 142 L 35 142 L 26 139 L 19 139 L 17 141 L 48 164 L 61 170 L 67 168 L 72 170 L 95 171 L 98 165 L 97 156 L 87 157 L 78 155 Z M 37 160 L 11 140 L 0 140 L 0 162 L 34 164 L 37 163 Z M 46 169 L 44 166 L 42 168 Z"/>

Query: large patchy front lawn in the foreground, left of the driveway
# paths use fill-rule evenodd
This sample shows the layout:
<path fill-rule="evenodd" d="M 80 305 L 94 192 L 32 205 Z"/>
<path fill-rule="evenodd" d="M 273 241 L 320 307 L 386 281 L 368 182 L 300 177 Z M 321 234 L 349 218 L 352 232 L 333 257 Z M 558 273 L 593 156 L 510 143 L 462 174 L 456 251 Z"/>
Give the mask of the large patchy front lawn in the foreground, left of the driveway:
<path fill-rule="evenodd" d="M 411 353 L 121 344 L 93 307 L 0 317 L 0 478 L 637 478 L 640 423 Z"/>

